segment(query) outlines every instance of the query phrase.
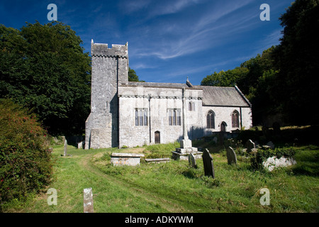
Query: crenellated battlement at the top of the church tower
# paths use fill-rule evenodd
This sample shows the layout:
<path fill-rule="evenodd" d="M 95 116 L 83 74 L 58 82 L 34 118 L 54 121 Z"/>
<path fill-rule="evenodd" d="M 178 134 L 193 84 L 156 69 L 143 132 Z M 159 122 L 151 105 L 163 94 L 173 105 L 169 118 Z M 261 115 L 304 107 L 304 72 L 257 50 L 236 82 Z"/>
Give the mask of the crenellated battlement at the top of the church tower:
<path fill-rule="evenodd" d="M 94 43 L 91 41 L 91 56 L 92 57 L 121 57 L 128 59 L 128 43 L 125 45 L 112 44 L 108 48 L 106 43 Z"/>

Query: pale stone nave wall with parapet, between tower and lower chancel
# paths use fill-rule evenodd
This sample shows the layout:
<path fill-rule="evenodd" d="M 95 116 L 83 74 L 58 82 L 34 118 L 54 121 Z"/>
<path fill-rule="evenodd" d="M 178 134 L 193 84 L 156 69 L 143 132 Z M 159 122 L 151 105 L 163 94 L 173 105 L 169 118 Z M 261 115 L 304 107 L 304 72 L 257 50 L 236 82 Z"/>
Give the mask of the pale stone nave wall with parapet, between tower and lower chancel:
<path fill-rule="evenodd" d="M 155 132 L 160 143 L 171 143 L 183 138 L 183 103 L 181 89 L 154 87 L 119 87 L 120 147 L 155 143 Z M 194 101 L 196 110 L 186 109 L 188 128 L 201 125 L 201 90 L 186 89 L 186 105 Z M 200 99 L 198 99 L 198 96 Z M 148 109 L 147 126 L 135 126 L 135 109 Z M 169 126 L 168 109 L 181 110 L 181 125 Z"/>

